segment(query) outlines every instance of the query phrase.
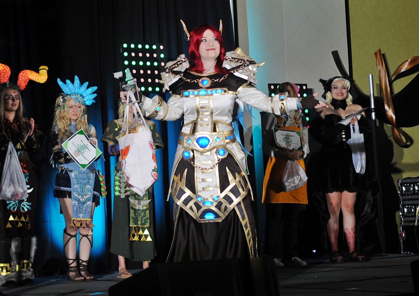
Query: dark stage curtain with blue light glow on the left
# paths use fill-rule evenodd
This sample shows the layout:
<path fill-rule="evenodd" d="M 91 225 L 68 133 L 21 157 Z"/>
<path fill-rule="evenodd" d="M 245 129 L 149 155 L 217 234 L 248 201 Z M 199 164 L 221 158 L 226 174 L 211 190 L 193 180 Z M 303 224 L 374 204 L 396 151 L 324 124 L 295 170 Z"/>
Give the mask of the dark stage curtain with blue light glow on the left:
<path fill-rule="evenodd" d="M 98 87 L 96 103 L 88 107 L 88 120 L 101 137 L 107 123 L 116 117 L 119 87 L 113 73 L 123 70 L 122 42 L 162 43 L 167 62 L 182 53 L 188 56 L 188 42 L 180 19 L 189 30 L 201 23 L 218 27 L 222 19 L 226 50 L 235 49 L 231 10 L 226 0 L 0 0 L 0 11 L 0 63 L 11 68 L 10 81 L 16 83 L 21 70 L 38 72 L 41 65 L 49 68 L 44 84 L 30 81 L 22 92 L 26 117 L 33 117 L 39 129 L 48 135 L 55 100 L 61 92 L 57 78 L 74 81 L 74 75 L 77 75 L 82 83 L 89 81 L 89 87 Z M 160 152 L 158 163 L 161 183 L 155 190 L 156 260 L 159 261 L 165 261 L 171 243 L 172 205 L 166 202 L 166 195 L 180 124 L 160 125 L 165 148 Z M 108 187 L 108 197 L 100 205 L 106 208 L 103 227 L 106 228 L 107 245 L 101 254 L 92 257 L 92 270 L 96 271 L 112 267 L 109 260 L 114 261 L 109 255 L 110 175 L 114 167 L 103 146 L 100 148 L 104 151 L 105 161 L 101 161 L 101 166 Z M 63 220 L 58 214 L 57 218 L 51 218 L 55 215 L 51 211 L 56 211 L 52 204 L 57 201 L 53 198 L 56 170 L 49 165 L 50 155 L 51 143 L 48 141 L 35 160 L 40 182 L 35 227 L 38 238 L 42 239 L 38 242 L 35 269 L 50 258 L 64 260 L 62 244 L 56 246 L 50 238 L 54 229 L 51 225 Z"/>

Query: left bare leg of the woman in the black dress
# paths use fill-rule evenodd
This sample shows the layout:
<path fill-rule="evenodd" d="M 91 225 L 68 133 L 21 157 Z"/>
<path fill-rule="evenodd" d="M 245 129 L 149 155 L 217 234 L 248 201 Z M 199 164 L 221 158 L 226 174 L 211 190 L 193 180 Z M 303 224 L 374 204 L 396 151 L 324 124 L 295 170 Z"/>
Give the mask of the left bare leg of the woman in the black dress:
<path fill-rule="evenodd" d="M 332 252 L 339 251 L 339 215 L 341 213 L 342 193 L 326 193 L 327 208 L 330 218 L 327 222 L 327 234 L 329 236 Z"/>

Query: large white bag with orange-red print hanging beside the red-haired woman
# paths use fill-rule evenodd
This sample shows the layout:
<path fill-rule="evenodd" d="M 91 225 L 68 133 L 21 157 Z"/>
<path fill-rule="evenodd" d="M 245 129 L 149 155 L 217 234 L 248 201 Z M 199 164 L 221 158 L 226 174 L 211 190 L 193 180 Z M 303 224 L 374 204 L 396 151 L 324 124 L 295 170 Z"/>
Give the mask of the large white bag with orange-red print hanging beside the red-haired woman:
<path fill-rule="evenodd" d="M 127 98 L 132 93 L 128 92 Z M 129 108 L 134 108 L 135 127 L 128 126 Z M 131 124 L 132 125 L 132 124 Z M 134 129 L 134 130 L 133 130 Z M 152 131 L 138 106 L 127 104 L 122 124 L 122 133 L 118 139 L 122 159 L 122 172 L 129 187 L 140 196 L 157 181 L 157 164 Z"/>

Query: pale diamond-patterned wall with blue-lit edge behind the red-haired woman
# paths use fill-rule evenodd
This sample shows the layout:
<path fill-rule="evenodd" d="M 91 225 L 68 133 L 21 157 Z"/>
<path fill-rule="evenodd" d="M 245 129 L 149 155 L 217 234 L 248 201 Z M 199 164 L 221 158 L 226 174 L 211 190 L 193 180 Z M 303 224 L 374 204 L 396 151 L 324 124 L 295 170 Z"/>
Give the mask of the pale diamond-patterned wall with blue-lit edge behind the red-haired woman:
<path fill-rule="evenodd" d="M 319 78 L 339 75 L 331 52 L 338 50 L 348 65 L 344 0 L 237 0 L 239 46 L 257 62 L 259 90 L 267 93 L 268 83 L 291 81 L 307 83 L 323 93 Z M 259 217 L 259 234 L 263 233 L 265 208 L 263 191 L 262 134 L 259 111 L 247 118 L 248 132 L 244 145 L 253 148 L 256 178 L 253 188 Z M 261 251 L 261 250 L 260 250 Z"/>

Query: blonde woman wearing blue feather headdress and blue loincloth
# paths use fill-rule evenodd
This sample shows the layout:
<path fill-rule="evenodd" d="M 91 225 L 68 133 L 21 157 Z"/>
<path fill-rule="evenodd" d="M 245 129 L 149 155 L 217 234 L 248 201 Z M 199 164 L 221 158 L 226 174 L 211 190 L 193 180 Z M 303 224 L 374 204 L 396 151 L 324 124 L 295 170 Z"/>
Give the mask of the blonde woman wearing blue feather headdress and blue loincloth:
<path fill-rule="evenodd" d="M 54 197 L 58 199 L 65 221 L 63 243 L 68 264 L 67 279 L 82 281 L 94 279 L 87 268 L 93 246 L 93 214 L 100 197 L 106 196 L 106 186 L 95 163 L 81 168 L 61 145 L 79 129 L 84 130 L 92 143 L 97 143 L 95 128 L 88 124 L 85 114 L 86 106 L 95 102 L 93 92 L 97 87 L 88 88 L 88 82 L 81 84 L 77 76 L 74 78 L 74 83 L 57 79 L 63 92 L 55 104 L 52 136 L 53 139 L 57 137 L 57 142 L 54 143 L 51 161 L 53 166 L 57 166 Z"/>

